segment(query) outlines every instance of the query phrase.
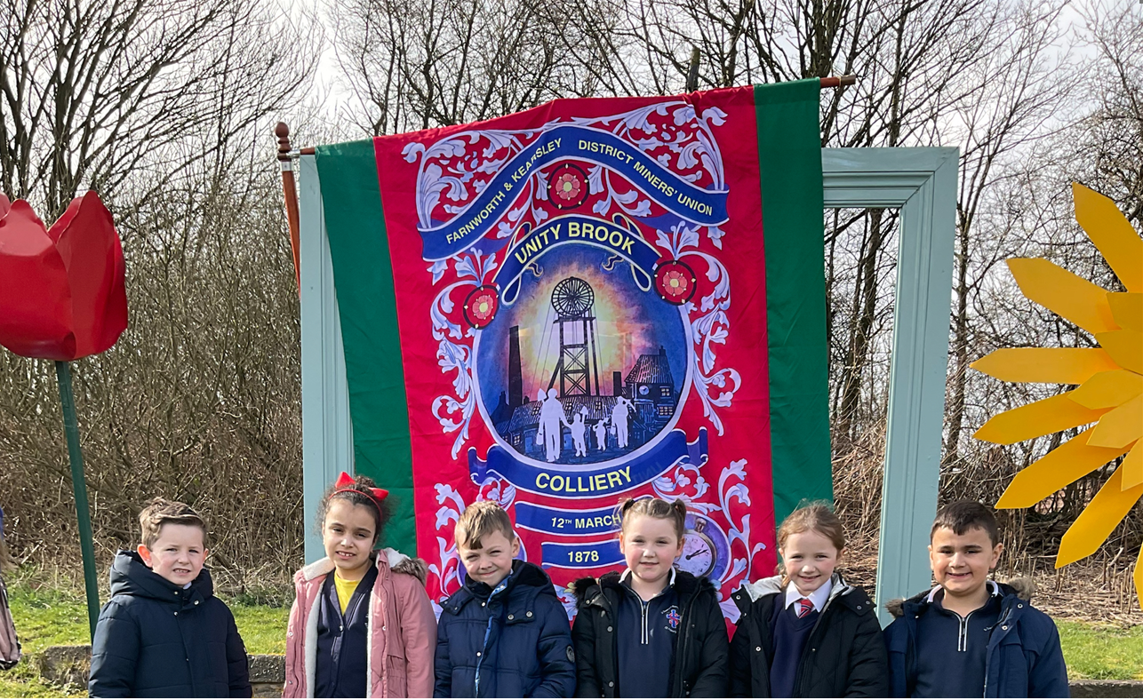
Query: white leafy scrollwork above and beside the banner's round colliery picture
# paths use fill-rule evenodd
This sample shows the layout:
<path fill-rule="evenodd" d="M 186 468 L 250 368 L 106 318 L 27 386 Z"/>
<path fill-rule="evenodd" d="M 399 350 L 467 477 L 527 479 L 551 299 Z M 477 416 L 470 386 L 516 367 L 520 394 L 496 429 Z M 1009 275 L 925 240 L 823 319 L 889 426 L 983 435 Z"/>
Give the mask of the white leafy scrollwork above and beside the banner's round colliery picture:
<path fill-rule="evenodd" d="M 653 115 L 666 120 L 653 121 Z M 726 186 L 722 154 L 711 127 L 722 124 L 726 118 L 727 114 L 718 107 L 709 107 L 698 114 L 694 105 L 685 100 L 662 102 L 609 116 L 551 121 L 538 129 L 462 131 L 429 146 L 410 143 L 401 154 L 409 163 L 419 161 L 417 218 L 422 228 L 429 228 L 433 225 L 433 211 L 438 206 L 446 214 L 463 215 L 477 201 L 473 193 L 482 192 L 505 163 L 526 151 L 536 137 L 568 123 L 606 129 L 633 143 L 664 167 L 673 164 L 680 171 L 679 176 L 688 182 L 705 178 L 709 187 L 722 191 Z M 616 188 L 621 183 L 629 185 L 623 192 Z M 650 214 L 650 200 L 641 196 L 637 184 L 626 182 L 622 175 L 602 166 L 589 168 L 588 186 L 592 194 L 606 193 L 606 198 L 593 206 L 593 212 L 601 217 L 622 214 L 640 218 Z M 527 178 L 523 186 L 517 188 L 514 196 L 522 198 L 517 199 L 520 206 L 509 208 L 505 220 L 499 222 L 494 230 L 493 240 L 518 239 L 547 218 L 543 208 L 534 206 L 537 200 L 547 198 L 547 183 L 538 169 Z M 442 201 L 446 203 L 441 204 Z M 718 259 L 695 250 L 703 230 L 711 243 L 721 249 L 725 232 L 719 226 L 700 225 L 685 217 L 680 217 L 680 222 L 671 226 L 670 234 L 660 231 L 657 244 L 669 250 L 674 259 L 701 258 L 705 263 L 706 279 L 714 283 L 713 291 L 702 297 L 697 308 L 688 303 L 685 309 L 692 316 L 694 352 L 689 354 L 693 385 L 703 403 L 703 415 L 718 434 L 722 435 L 724 426 L 716 408 L 730 405 L 742 379 L 732 368 L 716 370 L 714 346 L 725 345 L 729 333 L 730 324 L 726 312 L 730 306 L 730 282 L 726 267 Z M 467 442 L 469 425 L 475 413 L 472 357 L 475 330 L 464 331 L 449 319 L 455 308 L 451 293 L 462 287 L 485 283 L 496 263 L 493 255 L 485 257 L 479 250 L 459 254 L 448 262 L 438 262 L 429 267 L 433 285 L 445 277 L 449 263 L 456 272 L 457 281 L 446 285 L 437 295 L 430 307 L 430 319 L 433 338 L 439 343 L 437 359 L 441 372 L 455 372 L 455 377 L 453 393 L 435 397 L 432 413 L 440 421 L 443 432 L 457 433 L 451 451 L 455 459 Z"/>

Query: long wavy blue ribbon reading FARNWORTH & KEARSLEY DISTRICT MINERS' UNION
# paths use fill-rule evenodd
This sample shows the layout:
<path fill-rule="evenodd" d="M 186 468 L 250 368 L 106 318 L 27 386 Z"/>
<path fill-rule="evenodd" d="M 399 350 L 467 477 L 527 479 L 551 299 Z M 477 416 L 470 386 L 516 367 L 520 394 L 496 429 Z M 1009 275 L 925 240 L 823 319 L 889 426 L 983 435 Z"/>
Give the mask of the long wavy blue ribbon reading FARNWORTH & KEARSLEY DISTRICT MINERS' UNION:
<path fill-rule="evenodd" d="M 664 209 L 700 226 L 727 220 L 727 192 L 697 187 L 609 131 L 572 124 L 545 132 L 505 163 L 480 195 L 456 217 L 418 228 L 425 260 L 445 260 L 467 250 L 491 231 L 536 170 L 574 158 L 605 166 L 639 186 Z"/>

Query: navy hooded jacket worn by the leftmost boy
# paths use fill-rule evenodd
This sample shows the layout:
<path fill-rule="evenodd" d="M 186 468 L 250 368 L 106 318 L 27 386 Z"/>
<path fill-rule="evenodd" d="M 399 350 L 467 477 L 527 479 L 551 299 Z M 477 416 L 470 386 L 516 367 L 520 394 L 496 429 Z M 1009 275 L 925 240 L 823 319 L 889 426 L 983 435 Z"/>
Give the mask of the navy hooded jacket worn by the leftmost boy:
<path fill-rule="evenodd" d="M 184 589 L 119 552 L 87 689 L 93 698 L 249 698 L 246 649 L 210 573 Z"/>

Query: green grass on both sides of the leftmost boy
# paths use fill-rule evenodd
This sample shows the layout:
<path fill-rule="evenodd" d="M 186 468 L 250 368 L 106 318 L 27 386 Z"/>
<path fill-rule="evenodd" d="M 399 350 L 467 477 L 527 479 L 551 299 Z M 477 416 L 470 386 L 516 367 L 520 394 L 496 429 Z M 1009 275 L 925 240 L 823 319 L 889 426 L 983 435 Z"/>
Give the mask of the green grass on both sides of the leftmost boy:
<path fill-rule="evenodd" d="M 286 622 L 289 608 L 266 604 L 243 604 L 222 598 L 234 613 L 238 631 L 251 654 L 286 653 Z M 242 596 L 243 601 L 253 600 Z M 261 597 L 259 600 L 267 600 Z M 269 598 L 281 603 L 280 598 Z M 16 635 L 23 650 L 21 662 L 0 671 L 0 698 L 83 698 L 87 689 L 46 683 L 35 670 L 35 660 L 48 646 L 89 644 L 87 603 L 81 594 L 70 589 L 37 586 L 32 579 L 17 578 L 8 587 Z"/>

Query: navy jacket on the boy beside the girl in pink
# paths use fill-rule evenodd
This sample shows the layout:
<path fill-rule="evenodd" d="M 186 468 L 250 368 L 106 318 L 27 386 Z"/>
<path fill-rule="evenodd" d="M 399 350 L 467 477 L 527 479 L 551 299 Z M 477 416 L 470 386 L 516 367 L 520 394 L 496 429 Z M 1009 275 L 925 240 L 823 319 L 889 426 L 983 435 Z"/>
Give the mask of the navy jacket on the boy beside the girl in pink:
<path fill-rule="evenodd" d="M 572 626 L 552 580 L 518 560 L 504 584 L 493 595 L 486 584 L 470 579 L 442 603 L 437 698 L 570 698 L 575 692 Z"/>

